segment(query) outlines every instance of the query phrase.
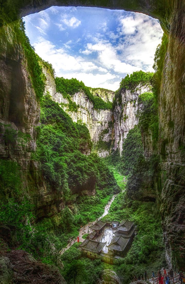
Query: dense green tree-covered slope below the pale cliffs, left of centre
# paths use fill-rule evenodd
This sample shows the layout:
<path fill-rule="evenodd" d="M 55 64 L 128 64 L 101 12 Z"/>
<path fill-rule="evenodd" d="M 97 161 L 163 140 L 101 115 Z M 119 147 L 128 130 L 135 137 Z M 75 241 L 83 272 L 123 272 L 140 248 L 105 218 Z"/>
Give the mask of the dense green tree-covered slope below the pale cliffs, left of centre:
<path fill-rule="evenodd" d="M 38 127 L 37 155 L 45 178 L 68 200 L 69 189 L 86 189 L 96 183 L 100 189 L 116 187 L 113 175 L 91 150 L 89 131 L 72 119 L 49 96 L 41 101 L 41 126 Z M 108 178 L 109 183 L 104 183 Z M 93 181 L 93 183 L 92 183 Z"/>

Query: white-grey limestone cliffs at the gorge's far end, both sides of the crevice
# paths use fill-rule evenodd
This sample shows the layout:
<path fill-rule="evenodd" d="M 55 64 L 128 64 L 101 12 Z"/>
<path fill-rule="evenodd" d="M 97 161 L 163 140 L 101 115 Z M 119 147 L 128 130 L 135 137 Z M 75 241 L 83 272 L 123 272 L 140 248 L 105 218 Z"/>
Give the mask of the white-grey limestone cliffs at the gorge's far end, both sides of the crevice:
<path fill-rule="evenodd" d="M 61 107 L 72 118 L 74 122 L 85 123 L 91 140 L 94 145 L 101 139 L 104 142 L 110 140 L 114 145 L 113 150 L 119 149 L 120 155 L 123 150 L 123 141 L 127 137 L 129 130 L 138 124 L 138 112 L 142 105 L 138 104 L 138 96 L 142 93 L 149 92 L 150 86 L 138 85 L 134 92 L 125 90 L 121 93 L 121 104 L 117 100 L 114 110 L 95 110 L 93 103 L 82 91 L 75 93 L 71 100 L 79 107 L 78 111 L 68 110 L 68 99 L 65 99 L 61 93 L 56 93 L 56 85 L 52 75 L 43 69 L 47 77 L 45 93 L 49 92 L 55 102 L 61 104 Z M 102 89 L 93 91 L 93 95 L 102 97 L 104 101 L 113 101 L 114 92 Z M 114 122 L 114 123 L 113 123 Z M 100 157 L 106 157 L 110 154 L 108 149 L 97 149 Z"/>

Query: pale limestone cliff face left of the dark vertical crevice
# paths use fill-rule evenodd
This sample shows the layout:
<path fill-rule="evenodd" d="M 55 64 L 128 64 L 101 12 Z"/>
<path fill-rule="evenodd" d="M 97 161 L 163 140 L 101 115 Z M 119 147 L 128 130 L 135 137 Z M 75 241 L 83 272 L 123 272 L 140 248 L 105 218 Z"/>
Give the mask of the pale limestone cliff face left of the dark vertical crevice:
<path fill-rule="evenodd" d="M 43 68 L 43 73 L 47 78 L 45 93 L 49 92 L 53 100 L 61 105 L 64 111 L 69 114 L 74 122 L 82 122 L 86 124 L 94 145 L 99 141 L 99 139 L 104 142 L 109 142 L 112 139 L 112 110 L 94 109 L 93 103 L 84 92 L 80 91 L 71 97 L 72 102 L 75 102 L 78 106 L 78 110 L 69 111 L 68 99 L 65 99 L 61 93 L 56 92 L 56 85 L 52 75 L 47 72 L 45 68 Z M 96 91 L 94 91 L 93 89 L 93 93 L 95 95 L 98 94 L 98 96 L 104 99 L 104 101 L 113 101 L 113 91 L 106 91 L 104 89 L 96 89 Z M 98 149 L 96 152 L 100 157 L 105 157 L 109 155 L 110 148 L 108 150 Z"/>

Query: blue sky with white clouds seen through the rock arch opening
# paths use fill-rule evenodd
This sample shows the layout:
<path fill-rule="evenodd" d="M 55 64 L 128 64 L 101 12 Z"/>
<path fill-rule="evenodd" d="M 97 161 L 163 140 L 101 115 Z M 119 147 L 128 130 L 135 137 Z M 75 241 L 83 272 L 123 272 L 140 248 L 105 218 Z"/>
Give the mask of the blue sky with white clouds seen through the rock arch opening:
<path fill-rule="evenodd" d="M 112 91 L 127 74 L 154 71 L 163 34 L 156 19 L 123 10 L 51 7 L 23 20 L 35 52 L 56 76 Z"/>

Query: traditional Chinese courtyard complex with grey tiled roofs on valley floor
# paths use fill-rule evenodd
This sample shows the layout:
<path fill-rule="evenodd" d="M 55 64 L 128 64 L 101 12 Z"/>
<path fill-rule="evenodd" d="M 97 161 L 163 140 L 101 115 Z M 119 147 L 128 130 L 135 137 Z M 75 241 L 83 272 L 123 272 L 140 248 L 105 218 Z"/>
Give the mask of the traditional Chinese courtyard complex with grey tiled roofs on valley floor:
<path fill-rule="evenodd" d="M 129 220 L 122 222 L 102 222 L 99 220 L 90 228 L 93 231 L 79 246 L 79 249 L 83 250 L 89 258 L 98 258 L 112 264 L 117 259 L 124 257 L 130 249 L 136 226 Z M 106 230 L 111 237 L 106 242 L 99 242 L 100 238 L 105 239 L 104 237 L 108 236 L 104 233 Z"/>

